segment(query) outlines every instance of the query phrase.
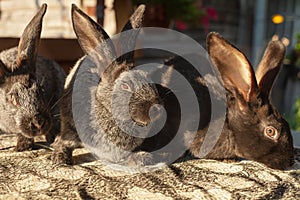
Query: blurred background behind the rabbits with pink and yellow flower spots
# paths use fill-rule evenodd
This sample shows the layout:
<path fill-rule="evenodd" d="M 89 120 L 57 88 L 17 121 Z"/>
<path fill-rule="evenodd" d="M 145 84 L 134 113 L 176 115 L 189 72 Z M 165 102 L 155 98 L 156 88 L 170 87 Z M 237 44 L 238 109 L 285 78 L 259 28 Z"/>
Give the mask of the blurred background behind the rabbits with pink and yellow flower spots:
<path fill-rule="evenodd" d="M 40 54 L 56 60 L 66 72 L 83 55 L 72 28 L 72 3 L 109 35 L 121 30 L 138 4 L 146 4 L 143 26 L 183 32 L 203 47 L 207 33 L 217 31 L 244 52 L 254 68 L 267 43 L 282 40 L 287 53 L 272 102 L 292 129 L 300 131 L 300 0 L 0 0 L 0 50 L 18 44 L 23 29 L 42 3 L 47 3 L 48 9 Z M 170 38 L 159 37 L 166 45 L 172 43 Z M 152 56 L 158 60 L 164 55 Z"/>

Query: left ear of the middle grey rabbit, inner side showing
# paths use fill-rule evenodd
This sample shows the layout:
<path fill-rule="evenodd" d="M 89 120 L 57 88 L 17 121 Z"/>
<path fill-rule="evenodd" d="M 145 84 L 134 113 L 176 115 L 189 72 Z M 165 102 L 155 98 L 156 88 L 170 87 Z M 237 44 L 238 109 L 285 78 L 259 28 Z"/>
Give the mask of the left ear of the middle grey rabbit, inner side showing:
<path fill-rule="evenodd" d="M 86 55 L 90 55 L 99 66 L 113 60 L 116 52 L 108 34 L 75 4 L 72 4 L 72 22 L 78 42 Z"/>

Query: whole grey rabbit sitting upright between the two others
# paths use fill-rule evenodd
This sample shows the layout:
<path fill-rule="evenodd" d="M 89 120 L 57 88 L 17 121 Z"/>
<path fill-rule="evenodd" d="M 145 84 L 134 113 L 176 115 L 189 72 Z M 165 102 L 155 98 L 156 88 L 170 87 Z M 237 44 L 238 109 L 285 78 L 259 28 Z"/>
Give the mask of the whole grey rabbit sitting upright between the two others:
<path fill-rule="evenodd" d="M 126 48 L 130 50 L 135 46 L 144 10 L 145 6 L 140 5 L 124 26 L 122 32 L 134 31 L 121 34 L 121 53 L 124 53 Z M 127 134 L 126 130 L 122 130 L 119 127 L 120 124 L 113 118 L 114 112 L 117 113 L 117 118 L 121 123 L 126 124 L 132 120 L 133 126 L 130 126 L 130 129 L 134 129 L 134 127 L 149 125 L 151 120 L 160 115 L 160 95 L 155 84 L 149 83 L 149 73 L 145 70 L 134 69 L 133 52 L 113 60 L 116 51 L 107 33 L 74 4 L 72 5 L 72 22 L 78 42 L 84 53 L 89 56 L 81 58 L 67 77 L 64 97 L 60 102 L 61 133 L 52 145 L 54 152 L 51 160 L 55 163 L 73 164 L 72 152 L 75 148 L 82 146 L 74 123 L 74 110 L 72 111 L 74 82 L 76 76 L 81 75 L 79 72 L 81 67 L 97 65 L 99 84 L 91 109 L 95 112 L 95 119 L 92 122 L 96 126 L 95 138 L 100 144 L 101 155 L 97 155 L 98 158 L 105 162 L 124 165 L 143 165 L 152 162 L 151 155 L 139 149 L 144 139 Z M 107 62 L 104 55 L 108 57 L 108 60 L 112 60 L 106 69 L 103 68 Z M 127 106 L 129 106 L 129 118 L 126 115 Z M 82 105 L 82 107 L 87 107 L 87 105 Z M 112 111 L 112 109 L 115 110 Z M 150 110 L 153 111 L 150 112 L 152 114 L 149 114 Z M 131 156 L 130 152 L 134 151 L 138 153 Z"/>

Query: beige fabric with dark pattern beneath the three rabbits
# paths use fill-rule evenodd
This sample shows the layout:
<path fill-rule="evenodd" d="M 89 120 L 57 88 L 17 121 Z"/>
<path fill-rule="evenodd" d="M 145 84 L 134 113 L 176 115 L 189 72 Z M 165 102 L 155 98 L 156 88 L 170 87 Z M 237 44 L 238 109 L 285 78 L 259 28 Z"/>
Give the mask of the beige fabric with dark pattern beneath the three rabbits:
<path fill-rule="evenodd" d="M 17 153 L 15 141 L 0 134 L 0 199 L 300 199 L 299 163 L 279 171 L 252 161 L 190 160 L 125 173 L 84 149 L 75 150 L 74 166 L 54 165 L 50 150 Z"/>

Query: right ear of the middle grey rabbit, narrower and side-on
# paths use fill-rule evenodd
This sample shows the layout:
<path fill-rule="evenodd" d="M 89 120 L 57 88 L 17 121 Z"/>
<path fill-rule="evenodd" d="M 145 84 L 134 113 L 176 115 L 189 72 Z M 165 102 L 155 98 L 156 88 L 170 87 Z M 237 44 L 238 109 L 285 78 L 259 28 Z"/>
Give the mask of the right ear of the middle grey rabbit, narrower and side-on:
<path fill-rule="evenodd" d="M 145 12 L 145 5 L 140 5 L 129 18 L 128 22 L 122 29 L 120 35 L 120 51 L 121 56 L 118 58 L 118 62 L 126 61 L 127 64 L 134 62 L 134 52 L 132 51 L 135 47 L 136 38 L 142 25 L 143 16 Z"/>

